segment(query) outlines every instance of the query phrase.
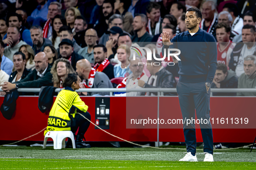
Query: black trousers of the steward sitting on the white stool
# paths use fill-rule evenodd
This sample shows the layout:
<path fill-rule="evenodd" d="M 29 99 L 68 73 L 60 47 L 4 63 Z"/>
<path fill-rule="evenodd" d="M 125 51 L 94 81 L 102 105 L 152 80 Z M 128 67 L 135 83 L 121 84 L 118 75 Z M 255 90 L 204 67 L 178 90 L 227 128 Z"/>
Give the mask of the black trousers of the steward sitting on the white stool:
<path fill-rule="evenodd" d="M 84 117 L 86 117 L 88 120 L 91 120 L 91 115 L 89 112 L 81 113 Z M 71 131 L 75 133 L 78 130 L 78 134 L 84 135 L 87 129 L 90 126 L 90 122 L 80 114 L 76 113 L 75 118 L 71 119 Z"/>

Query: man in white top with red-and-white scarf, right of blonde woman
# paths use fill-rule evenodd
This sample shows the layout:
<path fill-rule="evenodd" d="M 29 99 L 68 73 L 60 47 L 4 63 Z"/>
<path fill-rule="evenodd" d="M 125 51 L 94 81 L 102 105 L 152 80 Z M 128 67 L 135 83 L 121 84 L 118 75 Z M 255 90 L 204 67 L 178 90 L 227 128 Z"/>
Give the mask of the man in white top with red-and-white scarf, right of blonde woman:
<path fill-rule="evenodd" d="M 142 80 L 145 83 L 148 82 L 149 77 L 143 71 L 144 65 L 139 63 L 142 63 L 142 61 L 138 57 L 136 57 L 135 60 L 130 60 L 129 68 L 133 73 L 126 79 L 126 88 L 142 88 L 138 85 L 139 80 Z M 126 93 L 126 96 L 140 96 L 142 94 L 145 94 L 145 92 L 129 92 Z"/>

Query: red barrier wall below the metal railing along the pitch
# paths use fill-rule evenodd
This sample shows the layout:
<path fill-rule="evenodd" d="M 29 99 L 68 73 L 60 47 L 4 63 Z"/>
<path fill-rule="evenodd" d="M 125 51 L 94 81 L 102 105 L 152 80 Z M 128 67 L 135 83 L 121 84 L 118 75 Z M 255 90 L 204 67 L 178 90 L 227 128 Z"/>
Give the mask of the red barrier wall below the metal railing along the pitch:
<path fill-rule="evenodd" d="M 81 99 L 89 106 L 91 121 L 95 122 L 95 97 L 81 97 Z M 127 105 L 128 101 L 129 105 Z M 0 97 L 0 103 L 3 103 L 3 97 Z M 211 98 L 211 117 L 225 113 L 232 113 L 235 116 L 243 113 L 255 114 L 255 103 L 256 98 L 213 97 Z M 0 140 L 21 140 L 47 126 L 48 116 L 39 111 L 38 97 L 20 96 L 16 104 L 15 116 L 11 120 L 6 120 L 0 114 Z M 167 111 L 181 116 L 178 97 L 160 97 L 159 104 L 160 117 Z M 127 113 L 136 111 L 138 114 L 150 112 L 157 117 L 157 97 L 110 97 L 110 129 L 106 130 L 128 141 L 156 142 L 157 129 L 126 129 L 126 111 Z M 161 125 L 159 127 L 161 128 Z M 200 129 L 196 129 L 196 132 L 197 142 L 203 142 Z M 253 142 L 256 133 L 255 129 L 213 129 L 213 135 L 214 142 Z M 93 125 L 90 125 L 85 133 L 85 138 L 87 141 L 121 141 L 100 129 L 94 129 Z M 27 140 L 42 141 L 43 139 L 42 132 Z M 159 129 L 159 141 L 184 142 L 183 129 Z"/>

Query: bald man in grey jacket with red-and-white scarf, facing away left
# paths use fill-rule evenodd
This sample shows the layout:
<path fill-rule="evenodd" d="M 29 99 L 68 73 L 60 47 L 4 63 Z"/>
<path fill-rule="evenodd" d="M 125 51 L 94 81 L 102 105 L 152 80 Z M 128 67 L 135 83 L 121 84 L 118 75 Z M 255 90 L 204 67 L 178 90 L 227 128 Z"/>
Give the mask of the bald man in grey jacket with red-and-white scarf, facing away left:
<path fill-rule="evenodd" d="M 83 81 L 84 88 L 113 88 L 110 79 L 104 72 L 97 72 L 91 68 L 91 63 L 82 59 L 76 63 L 76 72 Z M 80 87 L 81 88 L 81 87 Z M 88 95 L 109 95 L 109 92 L 93 92 Z"/>

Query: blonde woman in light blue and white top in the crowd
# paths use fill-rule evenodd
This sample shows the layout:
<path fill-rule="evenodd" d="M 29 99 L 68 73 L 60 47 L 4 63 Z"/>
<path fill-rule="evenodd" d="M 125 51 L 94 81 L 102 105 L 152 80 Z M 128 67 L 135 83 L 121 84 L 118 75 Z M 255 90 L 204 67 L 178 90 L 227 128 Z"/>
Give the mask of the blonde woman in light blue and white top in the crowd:
<path fill-rule="evenodd" d="M 123 44 L 117 48 L 117 58 L 121 62 L 114 66 L 114 76 L 116 77 L 128 77 L 131 74 L 130 57 L 131 51 L 130 47 Z"/>

